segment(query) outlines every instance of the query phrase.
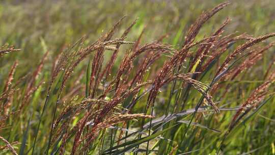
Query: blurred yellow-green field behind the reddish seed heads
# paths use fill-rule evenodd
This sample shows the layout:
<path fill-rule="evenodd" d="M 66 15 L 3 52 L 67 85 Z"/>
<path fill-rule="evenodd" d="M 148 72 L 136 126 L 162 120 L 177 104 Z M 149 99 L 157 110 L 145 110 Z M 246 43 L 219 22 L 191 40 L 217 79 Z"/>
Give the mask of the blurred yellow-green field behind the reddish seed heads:
<path fill-rule="evenodd" d="M 127 17 L 115 37 L 120 36 L 134 19 L 139 18 L 128 35 L 128 40 L 135 40 L 146 27 L 147 42 L 169 33 L 170 37 L 164 41 L 177 46 L 182 43 L 186 29 L 203 10 L 222 2 L 224 1 L 1 1 L 0 44 L 9 43 L 22 50 L 20 54 L 10 55 L 0 63 L 3 66 L 10 59 L 41 58 L 45 47 L 51 55 L 57 55 L 62 48 L 83 35 L 87 35 L 89 41 L 95 41 L 124 15 Z M 204 25 L 199 37 L 211 34 L 226 17 L 232 19 L 227 33 L 239 31 L 259 36 L 275 32 L 274 6 L 273 0 L 232 1 L 231 5 Z"/>

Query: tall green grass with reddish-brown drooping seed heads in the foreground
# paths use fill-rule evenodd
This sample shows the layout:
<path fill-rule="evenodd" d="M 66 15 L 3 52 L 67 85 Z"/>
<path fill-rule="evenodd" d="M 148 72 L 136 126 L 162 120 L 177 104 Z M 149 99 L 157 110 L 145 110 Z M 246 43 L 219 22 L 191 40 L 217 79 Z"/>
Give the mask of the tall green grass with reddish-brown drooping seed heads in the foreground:
<path fill-rule="evenodd" d="M 40 38 L 44 54 L 31 70 L 18 70 L 24 66 L 20 57 L 9 60 L 20 49 L 1 46 L 0 59 L 11 65 L 1 66 L 9 71 L 1 82 L 0 151 L 274 153 L 275 68 L 274 59 L 266 59 L 275 33 L 227 33 L 232 20 L 225 18 L 201 35 L 228 5 L 204 11 L 188 29 L 180 28 L 183 39 L 163 34 L 147 40 L 150 27 L 138 31 L 141 19 L 131 16 L 95 41 L 91 34 L 72 39 L 56 58 Z M 126 19 L 132 22 L 123 29 Z M 131 33 L 139 36 L 129 39 Z M 268 65 L 261 65 L 264 61 Z"/>

